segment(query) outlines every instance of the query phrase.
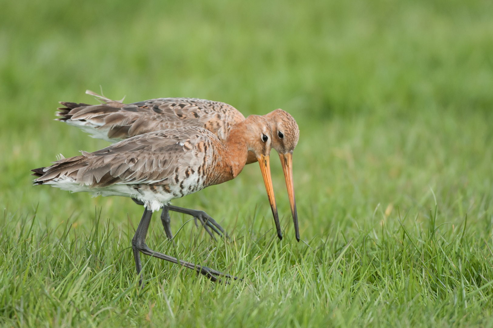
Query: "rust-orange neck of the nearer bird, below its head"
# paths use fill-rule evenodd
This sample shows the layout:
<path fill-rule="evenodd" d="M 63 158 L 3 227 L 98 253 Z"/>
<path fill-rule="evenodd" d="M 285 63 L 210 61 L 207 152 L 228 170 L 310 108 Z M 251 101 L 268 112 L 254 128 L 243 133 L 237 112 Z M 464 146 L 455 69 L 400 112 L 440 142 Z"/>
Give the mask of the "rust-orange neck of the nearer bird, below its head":
<path fill-rule="evenodd" d="M 231 128 L 224 145 L 227 161 L 231 169 L 231 174 L 233 175 L 232 179 L 236 178 L 242 172 L 246 164 L 246 158 L 248 156 L 248 146 L 245 138 L 246 128 L 247 126 L 244 122 L 235 124 Z"/>

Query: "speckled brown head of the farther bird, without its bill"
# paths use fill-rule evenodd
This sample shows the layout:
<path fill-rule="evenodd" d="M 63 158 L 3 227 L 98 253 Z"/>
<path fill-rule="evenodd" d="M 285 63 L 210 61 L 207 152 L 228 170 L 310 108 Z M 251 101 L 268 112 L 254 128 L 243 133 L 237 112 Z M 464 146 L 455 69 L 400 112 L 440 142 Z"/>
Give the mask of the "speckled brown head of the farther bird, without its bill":
<path fill-rule="evenodd" d="M 276 109 L 265 115 L 271 122 L 274 137 L 272 147 L 279 153 L 293 152 L 300 138 L 298 124 L 287 111 Z"/>

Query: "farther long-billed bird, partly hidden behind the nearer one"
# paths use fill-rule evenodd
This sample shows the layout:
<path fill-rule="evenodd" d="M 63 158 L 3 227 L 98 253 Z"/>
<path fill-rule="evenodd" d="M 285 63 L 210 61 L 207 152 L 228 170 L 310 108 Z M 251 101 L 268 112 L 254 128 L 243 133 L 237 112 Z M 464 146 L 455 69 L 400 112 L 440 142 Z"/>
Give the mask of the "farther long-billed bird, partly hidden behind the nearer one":
<path fill-rule="evenodd" d="M 77 126 L 92 134 L 94 138 L 104 139 L 109 142 L 118 142 L 143 133 L 173 129 L 185 126 L 203 127 L 224 143 L 231 128 L 245 120 L 245 116 L 231 105 L 195 98 L 158 98 L 141 101 L 132 104 L 123 104 L 100 96 L 90 90 L 87 94 L 97 97 L 105 104 L 88 105 L 61 102 L 64 108 L 59 108 L 57 120 Z M 293 187 L 293 150 L 298 143 L 299 129 L 294 118 L 282 109 L 276 109 L 263 115 L 269 122 L 272 132 L 272 147 L 276 149 L 281 159 L 282 170 L 286 181 L 286 187 L 293 216 L 296 240 L 300 240 L 298 228 L 298 214 Z M 256 156 L 248 153 L 246 164 L 257 161 Z M 270 197 L 270 195 L 268 195 Z M 272 195 L 273 196 L 273 195 Z M 274 196 L 273 196 L 274 197 Z M 269 199 L 272 213 L 276 212 L 274 198 Z M 136 201 L 136 203 L 141 204 Z M 224 232 L 224 229 L 204 211 L 184 209 L 177 206 L 169 206 L 169 210 L 188 214 L 200 220 L 206 231 L 213 237 L 209 227 L 216 233 Z M 166 215 L 163 211 L 163 216 Z M 165 218 L 162 217 L 163 224 Z M 282 239 L 281 224 L 274 215 L 277 234 Z M 165 226 L 166 229 L 166 226 Z M 170 232 L 171 233 L 171 232 Z M 168 232 L 167 232 L 168 234 Z"/>

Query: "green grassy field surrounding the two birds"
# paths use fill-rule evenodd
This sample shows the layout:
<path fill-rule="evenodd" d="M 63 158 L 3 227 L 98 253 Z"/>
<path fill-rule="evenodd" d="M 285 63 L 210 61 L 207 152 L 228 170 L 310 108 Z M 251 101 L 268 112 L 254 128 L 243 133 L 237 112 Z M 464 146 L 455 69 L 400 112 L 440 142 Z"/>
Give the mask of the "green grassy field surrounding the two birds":
<path fill-rule="evenodd" d="M 493 3 L 0 0 L 2 327 L 493 327 Z M 294 238 L 257 164 L 178 199 L 148 245 L 243 278 L 212 283 L 130 249 L 142 207 L 32 186 L 106 142 L 58 101 L 197 97 L 298 121 Z"/>

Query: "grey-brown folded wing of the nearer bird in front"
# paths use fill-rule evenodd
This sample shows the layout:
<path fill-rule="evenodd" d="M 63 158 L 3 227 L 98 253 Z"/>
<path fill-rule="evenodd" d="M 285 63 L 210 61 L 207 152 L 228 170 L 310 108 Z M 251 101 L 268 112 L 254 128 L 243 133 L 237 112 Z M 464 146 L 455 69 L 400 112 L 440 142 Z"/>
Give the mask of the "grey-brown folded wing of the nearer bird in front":
<path fill-rule="evenodd" d="M 133 137 L 104 149 L 56 161 L 44 168 L 35 183 L 61 176 L 81 185 L 157 183 L 173 177 L 181 166 L 201 160 L 196 145 L 217 138 L 203 128 L 189 127 L 158 131 Z"/>

